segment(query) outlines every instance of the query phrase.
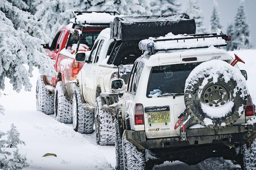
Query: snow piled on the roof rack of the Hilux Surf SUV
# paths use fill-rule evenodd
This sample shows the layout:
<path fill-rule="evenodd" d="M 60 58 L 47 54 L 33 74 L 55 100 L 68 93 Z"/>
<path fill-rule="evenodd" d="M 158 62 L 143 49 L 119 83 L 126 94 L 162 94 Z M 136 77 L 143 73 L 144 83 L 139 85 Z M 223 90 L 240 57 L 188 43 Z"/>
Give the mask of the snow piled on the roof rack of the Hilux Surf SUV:
<path fill-rule="evenodd" d="M 213 36 L 213 35 L 209 35 Z M 214 38 L 205 38 L 205 39 L 189 39 L 189 40 L 167 40 L 167 39 L 177 39 L 177 38 L 194 38 L 194 36 L 189 35 L 173 35 L 172 33 L 167 34 L 165 37 L 158 37 L 142 40 L 139 43 L 141 49 L 148 49 L 148 46 L 153 46 L 155 50 L 163 49 L 175 49 L 175 48 L 194 48 L 194 47 L 203 47 L 211 45 L 226 45 L 226 41 L 222 37 Z M 208 37 L 208 36 L 204 36 Z M 167 40 L 167 41 L 158 41 L 154 40 Z"/>

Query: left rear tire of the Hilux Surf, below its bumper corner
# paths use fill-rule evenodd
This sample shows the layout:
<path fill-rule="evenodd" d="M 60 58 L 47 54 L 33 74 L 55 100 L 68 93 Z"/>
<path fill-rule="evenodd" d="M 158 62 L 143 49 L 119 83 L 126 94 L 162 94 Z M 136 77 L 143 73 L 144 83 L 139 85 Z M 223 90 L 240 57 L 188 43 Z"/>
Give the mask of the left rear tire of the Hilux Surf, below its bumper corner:
<path fill-rule="evenodd" d="M 146 169 L 145 150 L 138 151 L 136 146 L 126 140 L 125 131 L 122 137 L 124 170 Z"/>

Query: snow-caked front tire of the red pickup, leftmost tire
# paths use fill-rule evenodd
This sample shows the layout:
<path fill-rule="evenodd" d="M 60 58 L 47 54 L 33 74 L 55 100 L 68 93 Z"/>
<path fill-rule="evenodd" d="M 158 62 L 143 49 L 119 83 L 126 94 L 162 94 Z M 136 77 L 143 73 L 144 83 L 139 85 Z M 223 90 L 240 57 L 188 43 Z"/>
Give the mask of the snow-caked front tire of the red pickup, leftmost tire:
<path fill-rule="evenodd" d="M 46 115 L 54 114 L 54 94 L 45 88 L 42 75 L 36 82 L 36 110 Z"/>

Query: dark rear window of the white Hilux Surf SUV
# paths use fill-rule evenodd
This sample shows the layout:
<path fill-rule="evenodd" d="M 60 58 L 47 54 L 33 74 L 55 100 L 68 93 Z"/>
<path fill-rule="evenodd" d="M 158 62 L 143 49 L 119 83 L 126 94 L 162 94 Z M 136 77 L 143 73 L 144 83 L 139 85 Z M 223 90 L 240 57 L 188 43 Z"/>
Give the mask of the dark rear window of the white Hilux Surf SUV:
<path fill-rule="evenodd" d="M 156 66 L 151 69 L 147 97 L 183 95 L 190 72 L 201 62 Z"/>

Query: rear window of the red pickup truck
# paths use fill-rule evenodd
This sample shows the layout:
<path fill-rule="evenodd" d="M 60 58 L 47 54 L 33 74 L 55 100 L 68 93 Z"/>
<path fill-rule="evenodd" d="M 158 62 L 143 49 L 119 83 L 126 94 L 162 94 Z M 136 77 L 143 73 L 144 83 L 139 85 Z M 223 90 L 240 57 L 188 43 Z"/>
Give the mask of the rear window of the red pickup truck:
<path fill-rule="evenodd" d="M 81 38 L 80 44 L 85 44 L 85 45 L 87 45 L 91 49 L 92 46 L 93 46 L 94 41 L 97 39 L 99 34 L 100 34 L 100 31 L 97 31 L 97 32 L 84 32 L 83 36 Z M 73 40 L 73 38 L 71 36 L 69 42 L 67 43 L 67 46 L 71 47 L 73 44 L 77 44 L 77 42 L 78 42 L 78 40 Z"/>

